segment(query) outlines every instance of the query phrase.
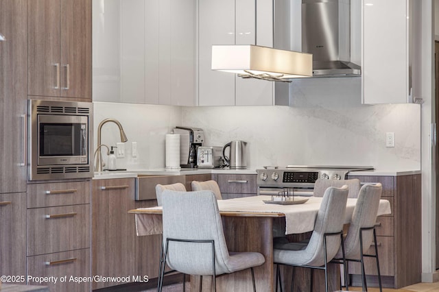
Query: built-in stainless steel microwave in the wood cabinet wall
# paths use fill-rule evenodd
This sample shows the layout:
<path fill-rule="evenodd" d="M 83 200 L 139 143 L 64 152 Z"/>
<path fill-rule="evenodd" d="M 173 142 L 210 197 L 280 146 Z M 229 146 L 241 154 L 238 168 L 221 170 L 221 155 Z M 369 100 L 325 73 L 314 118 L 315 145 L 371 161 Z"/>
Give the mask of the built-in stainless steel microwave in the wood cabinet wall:
<path fill-rule="evenodd" d="M 29 180 L 91 178 L 93 104 L 29 100 Z"/>

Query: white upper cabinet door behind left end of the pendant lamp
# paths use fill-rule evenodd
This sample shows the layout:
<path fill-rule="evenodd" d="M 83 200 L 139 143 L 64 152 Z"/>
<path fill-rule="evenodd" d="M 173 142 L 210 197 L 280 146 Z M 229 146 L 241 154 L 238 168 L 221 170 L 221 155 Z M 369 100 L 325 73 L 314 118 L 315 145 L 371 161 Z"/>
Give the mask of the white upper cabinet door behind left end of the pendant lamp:
<path fill-rule="evenodd" d="M 235 0 L 198 1 L 198 105 L 234 106 L 235 75 L 212 71 L 212 45 L 235 44 Z"/>

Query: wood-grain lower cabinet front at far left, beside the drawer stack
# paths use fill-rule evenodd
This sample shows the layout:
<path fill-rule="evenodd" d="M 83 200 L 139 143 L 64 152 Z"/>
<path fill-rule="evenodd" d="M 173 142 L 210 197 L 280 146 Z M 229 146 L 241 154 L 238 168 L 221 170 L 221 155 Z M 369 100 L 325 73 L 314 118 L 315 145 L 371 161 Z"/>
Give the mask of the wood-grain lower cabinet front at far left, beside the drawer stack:
<path fill-rule="evenodd" d="M 26 193 L 0 194 L 0 222 L 0 274 L 25 276 Z"/>

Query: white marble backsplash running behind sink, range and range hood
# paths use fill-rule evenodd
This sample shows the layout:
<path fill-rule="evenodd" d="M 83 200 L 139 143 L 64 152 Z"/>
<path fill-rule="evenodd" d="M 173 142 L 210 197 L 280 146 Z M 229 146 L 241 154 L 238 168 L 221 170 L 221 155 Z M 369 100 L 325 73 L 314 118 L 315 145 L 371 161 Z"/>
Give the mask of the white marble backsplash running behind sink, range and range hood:
<path fill-rule="evenodd" d="M 97 125 L 107 117 L 126 130 L 126 158 L 119 168 L 165 166 L 165 134 L 176 125 L 200 127 L 206 146 L 248 142 L 248 167 L 263 165 L 368 165 L 375 169 L 420 169 L 420 106 L 361 105 L 359 78 L 295 80 L 291 106 L 178 107 L 94 103 Z M 324 88 L 324 89 L 322 89 Z M 385 147 L 394 132 L 395 147 Z M 131 156 L 137 142 L 138 155 Z M 114 124 L 102 128 L 102 143 L 115 146 Z"/>

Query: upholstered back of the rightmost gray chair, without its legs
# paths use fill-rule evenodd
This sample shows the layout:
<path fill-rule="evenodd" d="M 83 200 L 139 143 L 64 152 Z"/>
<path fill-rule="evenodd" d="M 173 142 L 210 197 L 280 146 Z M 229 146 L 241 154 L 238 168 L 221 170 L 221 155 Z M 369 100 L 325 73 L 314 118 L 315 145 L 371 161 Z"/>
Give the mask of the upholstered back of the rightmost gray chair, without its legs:
<path fill-rule="evenodd" d="M 361 187 L 352 215 L 351 225 L 349 226 L 346 239 L 344 240 L 344 253 L 346 258 L 359 260 L 360 228 L 369 228 L 375 225 L 377 220 L 377 212 L 379 208 L 379 200 L 383 187 L 381 184 L 365 184 Z M 373 241 L 373 230 L 363 231 L 363 253 L 366 253 Z M 342 256 L 340 250 L 337 256 Z"/>

